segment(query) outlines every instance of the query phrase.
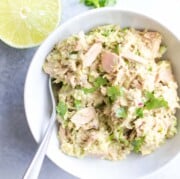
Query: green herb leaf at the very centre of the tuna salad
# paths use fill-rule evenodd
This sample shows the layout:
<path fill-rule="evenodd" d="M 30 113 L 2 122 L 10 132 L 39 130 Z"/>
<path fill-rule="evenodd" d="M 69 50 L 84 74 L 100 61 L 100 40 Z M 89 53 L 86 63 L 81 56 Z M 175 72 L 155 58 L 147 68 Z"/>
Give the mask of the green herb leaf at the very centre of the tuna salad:
<path fill-rule="evenodd" d="M 107 96 L 111 99 L 111 101 L 115 101 L 118 96 L 123 95 L 123 89 L 119 86 L 111 86 L 107 88 Z"/>

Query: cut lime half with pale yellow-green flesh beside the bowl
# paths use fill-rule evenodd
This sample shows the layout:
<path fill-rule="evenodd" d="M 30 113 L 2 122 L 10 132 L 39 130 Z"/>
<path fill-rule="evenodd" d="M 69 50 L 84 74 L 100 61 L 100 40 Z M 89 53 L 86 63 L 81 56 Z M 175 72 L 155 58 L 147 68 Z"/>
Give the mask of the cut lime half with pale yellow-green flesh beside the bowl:
<path fill-rule="evenodd" d="M 0 39 L 16 48 L 39 45 L 60 21 L 60 0 L 0 0 Z"/>

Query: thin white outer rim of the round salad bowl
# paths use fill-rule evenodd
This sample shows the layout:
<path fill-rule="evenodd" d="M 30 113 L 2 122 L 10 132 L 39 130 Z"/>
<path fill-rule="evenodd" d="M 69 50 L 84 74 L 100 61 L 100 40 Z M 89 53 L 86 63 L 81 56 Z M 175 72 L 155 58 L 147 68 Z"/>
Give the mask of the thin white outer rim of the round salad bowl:
<path fill-rule="evenodd" d="M 74 17 L 71 17 L 70 19 L 64 21 L 62 24 L 60 24 L 53 32 L 51 32 L 51 34 L 43 41 L 43 43 L 36 49 L 32 59 L 31 59 L 31 62 L 28 66 L 28 70 L 26 72 L 26 77 L 25 77 L 25 83 L 24 83 L 24 111 L 25 111 L 25 118 L 26 118 L 26 121 L 27 121 L 27 124 L 28 124 L 28 128 L 33 136 L 33 139 L 35 140 L 36 143 L 40 143 L 38 141 L 38 139 L 35 137 L 34 133 L 33 133 L 33 130 L 31 128 L 31 124 L 30 124 L 30 119 L 28 117 L 28 112 L 27 112 L 27 90 L 28 90 L 28 79 L 29 79 L 29 75 L 30 75 L 30 71 L 31 71 L 31 67 L 32 67 L 32 64 L 34 62 L 34 59 L 38 56 L 39 54 L 39 51 L 41 49 L 43 49 L 45 46 L 48 45 L 48 41 L 49 39 L 51 39 L 54 34 L 56 33 L 56 31 L 58 31 L 60 28 L 66 28 L 66 26 L 69 26 L 69 24 L 71 24 L 71 22 L 73 21 L 76 21 L 78 20 L 79 18 L 82 18 L 84 16 L 91 16 L 92 14 L 98 14 L 100 12 L 111 12 L 111 11 L 118 11 L 120 13 L 129 13 L 129 14 L 132 14 L 134 16 L 142 16 L 144 18 L 147 18 L 153 22 L 155 22 L 156 24 L 160 25 L 163 29 L 166 29 L 166 31 L 168 31 L 171 36 L 173 36 L 177 41 L 179 41 L 177 35 L 175 33 L 173 33 L 173 31 L 167 27 L 166 25 L 162 24 L 161 22 L 159 22 L 159 20 L 156 20 L 154 17 L 152 16 L 149 16 L 145 13 L 142 13 L 142 12 L 137 12 L 136 10 L 125 10 L 125 9 L 121 9 L 119 7 L 104 7 L 104 8 L 99 8 L 99 9 L 91 9 L 91 10 L 87 10 L 85 12 L 82 12 Z M 61 168 L 62 170 L 64 170 L 65 172 L 68 172 L 74 176 L 77 176 L 77 173 L 75 172 L 70 172 L 69 170 L 67 170 L 65 167 L 62 166 L 59 166 L 57 164 L 57 162 L 55 162 L 47 153 L 46 153 L 46 156 L 48 157 L 48 159 L 50 159 L 57 167 Z M 169 165 L 171 165 L 171 163 L 176 160 L 178 157 L 180 156 L 180 151 L 177 152 L 177 154 L 174 155 L 173 158 L 171 158 L 168 162 L 164 163 L 162 166 L 158 167 L 157 169 L 155 169 L 154 171 L 148 173 L 148 174 L 145 174 L 141 177 L 151 177 L 153 175 L 156 175 L 157 173 L 161 172 L 162 170 L 164 170 L 166 167 L 168 167 Z M 77 176 L 78 177 L 78 176 Z"/>

